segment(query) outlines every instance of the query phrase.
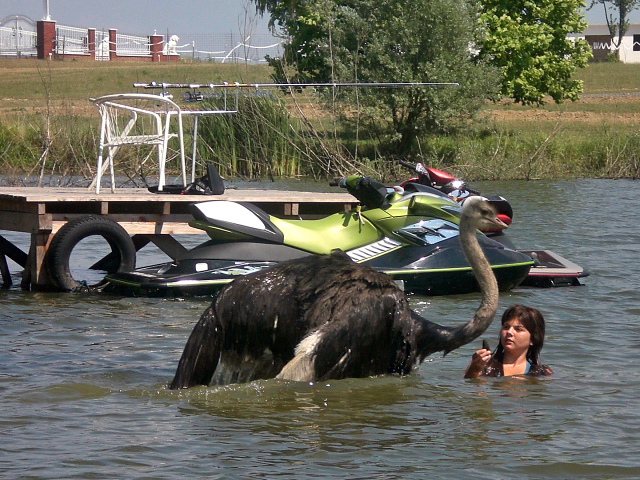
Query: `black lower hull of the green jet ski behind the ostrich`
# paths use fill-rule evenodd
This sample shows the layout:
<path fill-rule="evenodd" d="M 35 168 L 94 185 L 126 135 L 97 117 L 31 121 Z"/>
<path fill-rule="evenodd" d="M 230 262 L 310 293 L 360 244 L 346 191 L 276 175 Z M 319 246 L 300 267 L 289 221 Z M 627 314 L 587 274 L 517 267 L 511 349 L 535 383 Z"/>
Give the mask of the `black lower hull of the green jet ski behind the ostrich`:
<path fill-rule="evenodd" d="M 529 256 L 505 249 L 484 237 L 480 241 L 502 291 L 518 286 L 527 277 L 533 264 Z M 213 295 L 234 278 L 268 268 L 278 261 L 306 255 L 311 254 L 269 244 L 233 242 L 220 245 L 208 242 L 187 252 L 175 263 L 109 274 L 106 290 L 134 296 Z M 214 256 L 219 258 L 214 259 Z M 271 260 L 274 258 L 277 261 Z M 448 295 L 479 290 L 457 238 L 433 248 L 396 248 L 382 255 L 364 258 L 359 263 L 401 281 L 407 292 Z"/>

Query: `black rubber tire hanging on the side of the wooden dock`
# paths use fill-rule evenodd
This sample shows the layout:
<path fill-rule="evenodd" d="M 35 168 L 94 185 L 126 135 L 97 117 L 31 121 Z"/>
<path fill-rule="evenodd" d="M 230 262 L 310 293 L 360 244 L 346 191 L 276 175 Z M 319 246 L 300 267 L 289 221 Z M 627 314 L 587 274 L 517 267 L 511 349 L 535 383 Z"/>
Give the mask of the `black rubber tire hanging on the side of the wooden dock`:
<path fill-rule="evenodd" d="M 136 248 L 124 228 L 100 215 L 78 217 L 65 223 L 56 232 L 47 249 L 45 268 L 49 279 L 57 288 L 72 291 L 82 286 L 71 275 L 69 259 L 75 246 L 92 235 L 100 235 L 109 243 L 116 256 L 117 268 L 113 272 L 126 272 L 135 268 Z"/>

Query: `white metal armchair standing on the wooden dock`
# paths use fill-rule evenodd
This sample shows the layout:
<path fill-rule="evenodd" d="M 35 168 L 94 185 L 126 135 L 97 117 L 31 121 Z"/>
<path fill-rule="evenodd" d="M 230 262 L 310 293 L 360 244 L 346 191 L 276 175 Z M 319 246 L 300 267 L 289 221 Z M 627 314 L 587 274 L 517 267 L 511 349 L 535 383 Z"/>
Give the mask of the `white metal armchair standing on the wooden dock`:
<path fill-rule="evenodd" d="M 89 189 L 100 193 L 100 182 L 107 168 L 111 174 L 111 191 L 115 191 L 113 161 L 123 146 L 152 145 L 158 155 L 158 190 L 166 184 L 165 166 L 169 139 L 178 137 L 183 186 L 187 185 L 182 131 L 182 110 L 170 98 L 146 93 L 116 93 L 91 98 L 100 111 L 100 146 L 96 176 Z M 171 119 L 178 120 L 177 133 L 170 133 Z M 105 157 L 104 151 L 107 150 Z"/>

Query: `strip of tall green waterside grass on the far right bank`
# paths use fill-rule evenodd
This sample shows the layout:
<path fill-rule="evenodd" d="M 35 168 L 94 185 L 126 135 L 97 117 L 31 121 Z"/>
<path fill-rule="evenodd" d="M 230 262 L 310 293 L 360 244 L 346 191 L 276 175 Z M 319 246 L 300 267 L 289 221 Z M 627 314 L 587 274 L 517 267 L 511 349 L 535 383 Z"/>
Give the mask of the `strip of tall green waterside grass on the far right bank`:
<path fill-rule="evenodd" d="M 581 133 L 581 134 L 580 134 Z M 640 136 L 596 128 L 589 134 L 554 128 L 496 127 L 462 134 L 425 135 L 423 161 L 466 180 L 639 178 Z"/>

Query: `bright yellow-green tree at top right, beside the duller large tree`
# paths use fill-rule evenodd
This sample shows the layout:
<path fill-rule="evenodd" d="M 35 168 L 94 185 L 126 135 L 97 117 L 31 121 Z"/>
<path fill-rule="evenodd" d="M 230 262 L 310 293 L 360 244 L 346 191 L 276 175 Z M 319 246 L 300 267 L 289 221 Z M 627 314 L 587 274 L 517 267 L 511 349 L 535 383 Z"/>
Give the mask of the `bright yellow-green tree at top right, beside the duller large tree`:
<path fill-rule="evenodd" d="M 502 69 L 502 94 L 522 104 L 576 100 L 591 49 L 570 33 L 586 27 L 582 0 L 482 0 L 487 35 L 481 56 Z"/>

